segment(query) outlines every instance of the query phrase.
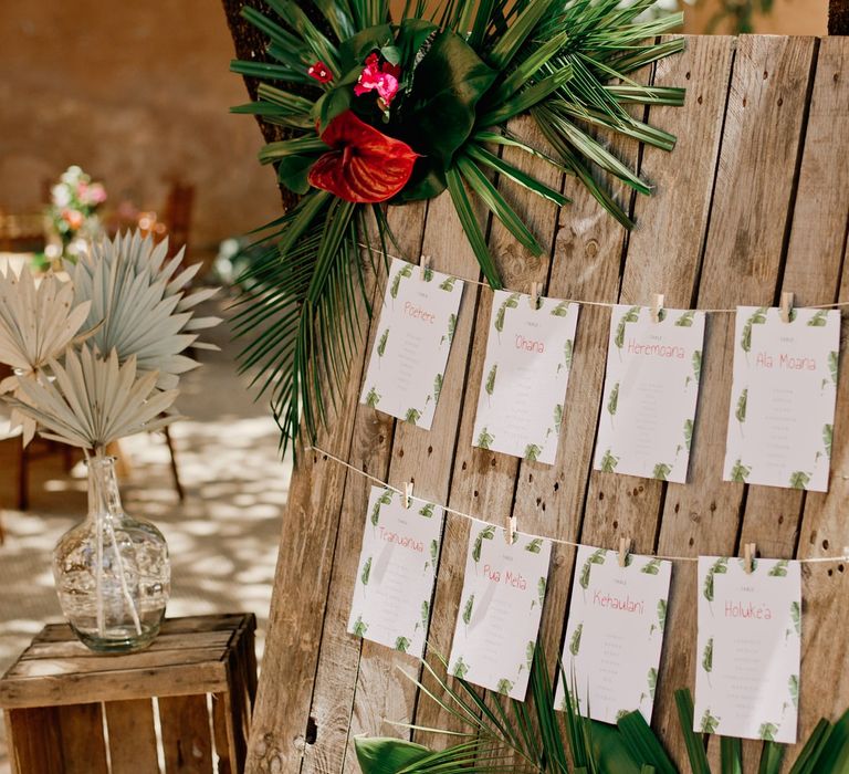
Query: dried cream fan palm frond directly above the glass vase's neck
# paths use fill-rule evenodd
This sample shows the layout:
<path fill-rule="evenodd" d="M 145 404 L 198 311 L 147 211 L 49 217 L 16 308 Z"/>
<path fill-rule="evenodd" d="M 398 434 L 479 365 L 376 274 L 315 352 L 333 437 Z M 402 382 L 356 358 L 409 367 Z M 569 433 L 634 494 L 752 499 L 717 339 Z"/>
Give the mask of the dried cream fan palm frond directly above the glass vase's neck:
<path fill-rule="evenodd" d="M 103 359 L 83 344 L 78 353 L 73 348 L 64 353 L 64 365 L 51 360 L 49 367 L 51 379 L 21 379 L 21 398 L 7 398 L 43 428 L 44 438 L 103 451 L 119 438 L 176 419 L 161 415 L 178 390 L 158 390 L 158 374 L 139 374 L 135 356 L 122 365 L 114 349 Z"/>

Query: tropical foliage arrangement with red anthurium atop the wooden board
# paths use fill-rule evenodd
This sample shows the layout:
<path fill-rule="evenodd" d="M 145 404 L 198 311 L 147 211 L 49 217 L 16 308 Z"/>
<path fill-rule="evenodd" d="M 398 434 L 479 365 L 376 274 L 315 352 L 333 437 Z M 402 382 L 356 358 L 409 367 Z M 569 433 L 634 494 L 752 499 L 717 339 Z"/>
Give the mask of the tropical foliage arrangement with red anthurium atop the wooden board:
<path fill-rule="evenodd" d="M 674 137 L 629 105 L 681 105 L 684 92 L 637 83 L 644 65 L 681 51 L 657 42 L 681 15 L 639 21 L 656 0 L 313 0 L 316 25 L 293 0 L 266 0 L 243 17 L 268 35 L 268 62 L 234 61 L 260 80 L 258 98 L 233 108 L 280 124 L 289 139 L 260 151 L 298 203 L 263 231 L 263 250 L 241 284 L 235 321 L 241 360 L 270 398 L 285 449 L 313 439 L 343 383 L 371 308 L 367 266 L 377 272 L 392 237 L 386 206 L 448 191 L 481 271 L 501 281 L 473 201 L 531 253 L 543 247 L 491 181 L 563 206 L 567 198 L 501 157 L 510 147 L 575 176 L 620 223 L 632 222 L 604 175 L 640 194 L 650 186 L 599 134 L 671 150 Z M 322 27 L 323 29 L 319 29 Z M 512 134 L 530 114 L 548 147 Z M 366 247 L 365 249 L 363 245 Z"/>

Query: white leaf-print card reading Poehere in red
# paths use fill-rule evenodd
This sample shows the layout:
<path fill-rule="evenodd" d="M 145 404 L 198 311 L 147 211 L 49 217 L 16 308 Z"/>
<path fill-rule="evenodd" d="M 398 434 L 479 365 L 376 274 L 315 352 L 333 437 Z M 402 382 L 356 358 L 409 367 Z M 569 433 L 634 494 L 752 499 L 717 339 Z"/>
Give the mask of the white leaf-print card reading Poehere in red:
<path fill-rule="evenodd" d="M 392 259 L 361 404 L 430 430 L 463 281 Z"/>

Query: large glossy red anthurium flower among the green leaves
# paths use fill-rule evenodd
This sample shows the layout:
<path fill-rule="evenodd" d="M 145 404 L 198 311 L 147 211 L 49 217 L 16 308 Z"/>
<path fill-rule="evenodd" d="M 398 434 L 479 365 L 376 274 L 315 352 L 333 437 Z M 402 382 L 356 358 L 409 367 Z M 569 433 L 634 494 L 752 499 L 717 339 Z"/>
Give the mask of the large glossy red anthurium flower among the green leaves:
<path fill-rule="evenodd" d="M 391 199 L 407 185 L 418 154 L 387 137 L 350 111 L 336 116 L 322 139 L 332 150 L 310 169 L 310 185 L 339 199 L 376 203 Z"/>

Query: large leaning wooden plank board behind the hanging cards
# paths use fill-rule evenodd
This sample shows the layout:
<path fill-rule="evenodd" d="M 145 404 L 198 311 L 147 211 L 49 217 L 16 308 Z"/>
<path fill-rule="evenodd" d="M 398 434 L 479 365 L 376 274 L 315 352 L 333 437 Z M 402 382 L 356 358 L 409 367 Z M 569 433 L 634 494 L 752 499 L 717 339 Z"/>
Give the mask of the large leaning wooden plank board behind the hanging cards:
<path fill-rule="evenodd" d="M 688 86 L 688 100 L 684 107 L 651 107 L 648 114 L 678 135 L 672 154 L 617 147 L 654 186 L 654 196 L 631 201 L 637 229 L 625 232 L 572 179 L 563 186 L 573 203 L 559 212 L 500 181 L 551 245 L 547 255 L 531 259 L 497 224 L 488 223 L 505 285 L 526 292 L 532 281 L 543 281 L 547 295 L 635 304 L 659 292 L 670 306 L 702 308 L 775 304 L 782 291 L 796 293 L 799 304 L 849 299 L 849 40 L 690 38 L 684 53 L 643 75 L 656 84 Z M 520 119 L 513 128 L 542 143 L 530 122 Z M 560 185 L 544 166 L 532 163 L 530 170 Z M 615 191 L 628 203 L 620 187 Z M 447 197 L 394 209 L 390 222 L 409 260 L 429 254 L 434 269 L 480 279 Z M 375 297 L 381 289 L 378 278 Z M 375 336 L 364 321 L 364 345 L 318 446 L 392 485 L 413 481 L 417 495 L 489 521 L 513 513 L 521 530 L 553 537 L 615 547 L 628 535 L 637 551 L 688 556 L 735 554 L 742 541 L 782 557 L 829 555 L 849 544 L 840 509 L 849 494 L 846 368 L 827 494 L 722 481 L 732 314 L 709 316 L 688 483 L 601 474 L 591 470 L 591 458 L 610 313 L 584 306 L 557 463 L 523 462 L 471 444 L 491 299 L 476 284 L 464 291 L 430 431 L 357 405 Z M 357 772 L 355 734 L 406 736 L 392 721 L 450 724 L 400 673 L 421 676 L 415 659 L 345 631 L 368 491 L 363 477 L 317 452 L 305 454 L 295 471 L 248 771 Z M 468 533 L 464 520 L 447 517 L 429 631 L 431 650 L 446 655 Z M 542 629 L 552 662 L 562 645 L 573 562 L 574 550 L 556 546 Z M 838 564 L 804 572 L 800 738 L 819 717 L 849 705 L 849 670 L 841 668 L 849 646 L 840 635 L 849 614 L 847 576 Z M 694 683 L 695 594 L 694 564 L 679 563 L 653 720 L 679 764 L 685 752 L 672 697 Z M 432 653 L 429 658 L 436 663 Z M 712 742 L 709 749 L 714 761 L 717 746 Z M 744 753 L 745 771 L 756 771 L 759 744 L 746 743 Z"/>

